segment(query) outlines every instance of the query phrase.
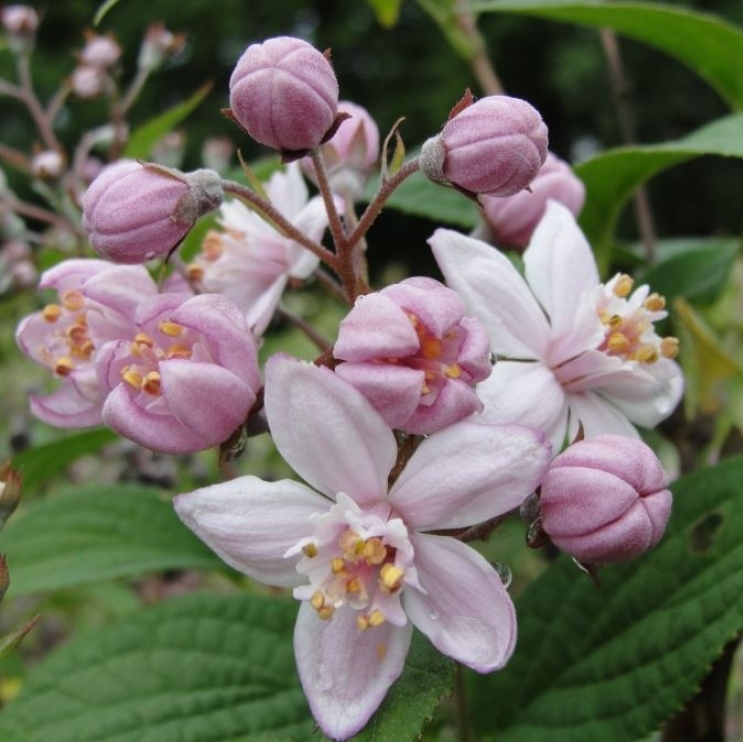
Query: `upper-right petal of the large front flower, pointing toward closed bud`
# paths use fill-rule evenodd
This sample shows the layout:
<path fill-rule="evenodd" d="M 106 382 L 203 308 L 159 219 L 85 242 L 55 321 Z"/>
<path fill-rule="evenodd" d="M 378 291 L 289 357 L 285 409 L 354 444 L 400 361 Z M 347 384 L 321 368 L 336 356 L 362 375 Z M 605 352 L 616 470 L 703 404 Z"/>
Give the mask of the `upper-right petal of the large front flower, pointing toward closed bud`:
<path fill-rule="evenodd" d="M 389 500 L 419 531 L 470 526 L 518 507 L 549 460 L 535 430 L 464 421 L 418 446 Z"/>

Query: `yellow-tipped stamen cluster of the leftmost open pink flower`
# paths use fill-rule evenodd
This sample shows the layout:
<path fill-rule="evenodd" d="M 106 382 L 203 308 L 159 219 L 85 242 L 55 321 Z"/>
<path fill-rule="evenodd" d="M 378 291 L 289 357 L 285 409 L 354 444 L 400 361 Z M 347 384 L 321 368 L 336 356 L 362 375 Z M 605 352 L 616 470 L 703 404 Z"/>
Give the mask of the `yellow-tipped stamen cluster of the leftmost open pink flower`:
<path fill-rule="evenodd" d="M 39 355 L 57 376 L 65 377 L 90 360 L 95 344 L 88 335 L 85 297 L 79 291 L 64 291 L 59 300 L 59 304 L 47 304 L 41 310 L 53 329 Z"/>

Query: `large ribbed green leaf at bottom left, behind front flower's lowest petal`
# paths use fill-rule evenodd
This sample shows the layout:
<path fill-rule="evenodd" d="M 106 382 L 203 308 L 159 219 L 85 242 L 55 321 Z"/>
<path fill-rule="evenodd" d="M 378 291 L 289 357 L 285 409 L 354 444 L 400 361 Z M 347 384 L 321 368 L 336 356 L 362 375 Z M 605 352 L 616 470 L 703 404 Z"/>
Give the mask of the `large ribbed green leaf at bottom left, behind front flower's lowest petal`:
<path fill-rule="evenodd" d="M 141 611 L 63 646 L 31 673 L 2 723 L 29 742 L 320 739 L 296 676 L 296 610 L 293 600 L 202 594 Z M 359 742 L 418 739 L 451 674 L 416 637 Z"/>

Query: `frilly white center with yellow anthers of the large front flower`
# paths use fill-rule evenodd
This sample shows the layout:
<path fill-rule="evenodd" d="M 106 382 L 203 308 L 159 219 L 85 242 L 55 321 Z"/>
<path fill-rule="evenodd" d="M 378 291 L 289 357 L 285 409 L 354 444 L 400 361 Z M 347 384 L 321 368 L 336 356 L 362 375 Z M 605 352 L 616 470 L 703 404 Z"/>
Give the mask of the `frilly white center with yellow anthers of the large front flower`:
<path fill-rule="evenodd" d="M 387 509 L 389 515 L 389 507 Z M 400 593 L 408 581 L 417 584 L 408 532 L 399 518 L 384 519 L 361 511 L 347 496 L 323 515 L 315 516 L 315 531 L 290 550 L 304 555 L 297 571 L 309 584 L 295 590 L 323 619 L 348 606 L 358 611 L 360 631 L 385 621 L 404 624 Z"/>

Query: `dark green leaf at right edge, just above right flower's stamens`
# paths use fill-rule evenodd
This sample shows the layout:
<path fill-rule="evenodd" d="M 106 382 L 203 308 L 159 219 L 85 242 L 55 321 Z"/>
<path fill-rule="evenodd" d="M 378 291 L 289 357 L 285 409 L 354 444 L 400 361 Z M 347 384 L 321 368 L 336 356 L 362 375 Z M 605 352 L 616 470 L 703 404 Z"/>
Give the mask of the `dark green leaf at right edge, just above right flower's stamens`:
<path fill-rule="evenodd" d="M 725 287 L 740 251 L 737 239 L 663 240 L 656 246 L 659 260 L 638 272 L 635 281 L 647 283 L 669 304 L 677 296 L 710 304 Z"/>

